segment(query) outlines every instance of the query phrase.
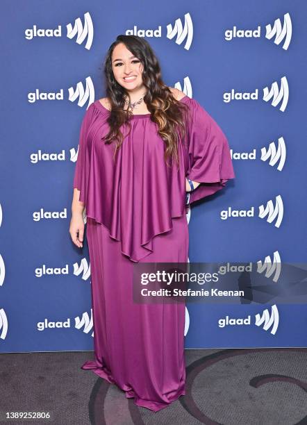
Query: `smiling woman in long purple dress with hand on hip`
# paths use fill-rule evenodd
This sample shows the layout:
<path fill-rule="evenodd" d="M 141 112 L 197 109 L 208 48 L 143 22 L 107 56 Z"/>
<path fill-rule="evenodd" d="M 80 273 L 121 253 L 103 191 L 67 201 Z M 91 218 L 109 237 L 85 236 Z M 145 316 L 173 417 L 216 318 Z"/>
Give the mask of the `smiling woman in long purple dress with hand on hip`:
<path fill-rule="evenodd" d="M 94 361 L 82 368 L 154 411 L 185 394 L 185 303 L 134 303 L 135 263 L 186 263 L 190 203 L 233 178 L 228 142 L 194 99 L 167 87 L 143 38 L 108 50 L 106 97 L 83 118 L 72 221 L 83 247 L 86 208 Z"/>

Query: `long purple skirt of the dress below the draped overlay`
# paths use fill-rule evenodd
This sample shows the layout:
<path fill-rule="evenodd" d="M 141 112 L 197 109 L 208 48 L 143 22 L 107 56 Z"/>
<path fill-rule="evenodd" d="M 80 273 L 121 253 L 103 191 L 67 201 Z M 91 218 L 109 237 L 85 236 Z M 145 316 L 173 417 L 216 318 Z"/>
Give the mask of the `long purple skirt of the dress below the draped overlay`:
<path fill-rule="evenodd" d="M 154 251 L 140 263 L 186 263 L 188 223 L 157 235 Z M 108 228 L 88 217 L 94 361 L 82 369 L 115 383 L 138 406 L 163 409 L 185 394 L 185 303 L 135 303 L 133 263 Z"/>

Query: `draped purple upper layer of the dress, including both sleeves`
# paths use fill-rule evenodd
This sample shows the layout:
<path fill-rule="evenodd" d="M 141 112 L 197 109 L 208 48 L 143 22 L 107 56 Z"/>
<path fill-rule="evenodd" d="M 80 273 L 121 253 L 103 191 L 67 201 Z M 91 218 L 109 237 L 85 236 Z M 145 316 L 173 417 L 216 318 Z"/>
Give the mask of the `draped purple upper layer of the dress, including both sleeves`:
<path fill-rule="evenodd" d="M 134 115 L 130 133 L 128 125 L 122 126 L 125 137 L 115 162 L 115 145 L 101 140 L 110 112 L 97 100 L 83 117 L 74 188 L 81 192 L 87 216 L 106 226 L 134 262 L 153 251 L 153 238 L 171 230 L 173 218 L 185 214 L 185 176 L 201 182 L 190 203 L 234 177 L 222 130 L 197 101 L 186 96 L 181 102 L 189 118 L 185 140 L 179 142 L 179 169 L 176 162 L 167 167 L 165 142 L 150 114 Z"/>

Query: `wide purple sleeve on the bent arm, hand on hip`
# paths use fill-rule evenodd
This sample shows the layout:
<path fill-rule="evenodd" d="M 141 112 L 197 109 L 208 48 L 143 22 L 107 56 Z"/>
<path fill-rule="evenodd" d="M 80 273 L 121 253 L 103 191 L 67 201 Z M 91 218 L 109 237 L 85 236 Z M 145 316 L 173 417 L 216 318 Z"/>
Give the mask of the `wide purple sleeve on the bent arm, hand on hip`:
<path fill-rule="evenodd" d="M 215 120 L 195 100 L 189 99 L 188 170 L 186 177 L 201 183 L 188 203 L 221 190 L 235 178 L 229 144 Z"/>

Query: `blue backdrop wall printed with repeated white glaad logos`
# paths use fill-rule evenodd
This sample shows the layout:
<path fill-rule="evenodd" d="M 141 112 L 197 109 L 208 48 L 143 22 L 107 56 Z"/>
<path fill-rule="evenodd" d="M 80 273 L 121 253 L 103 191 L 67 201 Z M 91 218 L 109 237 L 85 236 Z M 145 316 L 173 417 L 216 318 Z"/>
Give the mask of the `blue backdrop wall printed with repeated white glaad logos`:
<path fill-rule="evenodd" d="M 185 347 L 306 346 L 306 15 L 293 0 L 1 2 L 0 351 L 93 348 L 72 180 L 119 34 L 145 37 L 165 83 L 229 140 L 236 178 L 188 212 L 190 263 L 220 263 L 240 285 L 248 270 L 231 263 L 251 262 L 267 278 L 247 297 L 188 302 Z M 283 263 L 302 264 L 287 290 Z"/>

